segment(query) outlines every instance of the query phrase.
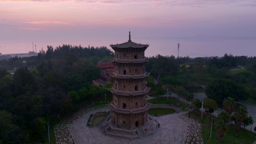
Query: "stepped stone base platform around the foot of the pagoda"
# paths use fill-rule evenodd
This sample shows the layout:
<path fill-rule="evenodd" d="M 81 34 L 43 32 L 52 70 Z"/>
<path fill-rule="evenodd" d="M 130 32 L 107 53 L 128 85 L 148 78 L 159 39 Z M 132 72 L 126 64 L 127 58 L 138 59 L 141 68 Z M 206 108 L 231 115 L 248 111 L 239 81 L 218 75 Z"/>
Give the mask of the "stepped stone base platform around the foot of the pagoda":
<path fill-rule="evenodd" d="M 158 122 L 156 120 L 152 117 L 147 117 L 147 119 L 147 122 L 143 126 L 138 126 L 134 129 L 126 129 L 117 127 L 115 123 L 112 123 L 111 117 L 109 117 L 101 123 L 100 127 L 107 135 L 130 139 L 144 138 L 148 135 L 154 134 L 158 129 Z"/>

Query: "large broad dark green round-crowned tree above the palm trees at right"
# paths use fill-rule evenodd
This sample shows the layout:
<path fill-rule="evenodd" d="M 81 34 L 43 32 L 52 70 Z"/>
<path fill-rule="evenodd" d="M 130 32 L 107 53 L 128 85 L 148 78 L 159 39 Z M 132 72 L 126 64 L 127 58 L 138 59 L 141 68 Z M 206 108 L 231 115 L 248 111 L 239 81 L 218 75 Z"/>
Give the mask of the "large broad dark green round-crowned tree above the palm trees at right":
<path fill-rule="evenodd" d="M 244 87 L 228 79 L 214 80 L 207 86 L 205 92 L 208 98 L 216 100 L 218 104 L 222 104 L 223 100 L 227 97 L 238 101 L 246 100 L 249 95 Z"/>

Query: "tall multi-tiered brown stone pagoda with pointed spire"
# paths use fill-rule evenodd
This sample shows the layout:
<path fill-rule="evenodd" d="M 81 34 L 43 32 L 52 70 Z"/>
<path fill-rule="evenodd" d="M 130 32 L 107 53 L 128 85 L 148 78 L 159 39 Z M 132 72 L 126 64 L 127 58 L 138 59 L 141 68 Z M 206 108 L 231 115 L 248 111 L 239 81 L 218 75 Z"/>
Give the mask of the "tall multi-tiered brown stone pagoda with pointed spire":
<path fill-rule="evenodd" d="M 129 32 L 128 42 L 110 45 L 115 50 L 115 65 L 111 74 L 113 101 L 109 104 L 111 122 L 118 128 L 135 129 L 144 126 L 148 120 L 149 104 L 146 94 L 150 88 L 146 86 L 145 70 L 147 59 L 144 51 L 149 45 L 134 43 Z"/>

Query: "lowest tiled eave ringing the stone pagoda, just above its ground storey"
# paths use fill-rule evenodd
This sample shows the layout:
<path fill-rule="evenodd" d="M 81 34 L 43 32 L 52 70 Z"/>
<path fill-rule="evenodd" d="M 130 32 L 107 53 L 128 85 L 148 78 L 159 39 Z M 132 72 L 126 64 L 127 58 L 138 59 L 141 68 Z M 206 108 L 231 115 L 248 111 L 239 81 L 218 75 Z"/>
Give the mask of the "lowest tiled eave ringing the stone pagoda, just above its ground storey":
<path fill-rule="evenodd" d="M 125 108 L 118 108 L 112 103 L 108 105 L 109 109 L 111 111 L 114 111 L 116 113 L 122 113 L 122 114 L 137 114 L 137 113 L 144 113 L 149 110 L 151 104 L 146 103 L 144 107 L 141 108 L 135 108 L 135 109 L 125 109 Z"/>

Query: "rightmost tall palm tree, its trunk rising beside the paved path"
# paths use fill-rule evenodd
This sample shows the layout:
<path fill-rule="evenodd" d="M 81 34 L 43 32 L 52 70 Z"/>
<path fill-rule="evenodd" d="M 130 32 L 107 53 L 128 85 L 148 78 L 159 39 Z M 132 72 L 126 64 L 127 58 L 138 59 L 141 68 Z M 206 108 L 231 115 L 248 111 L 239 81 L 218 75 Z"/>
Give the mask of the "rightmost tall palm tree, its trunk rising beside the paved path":
<path fill-rule="evenodd" d="M 247 110 L 245 107 L 239 106 L 237 112 L 233 115 L 235 117 L 235 123 L 237 124 L 237 131 L 241 128 L 244 119 L 247 118 Z M 238 135 L 238 134 L 236 134 Z"/>

